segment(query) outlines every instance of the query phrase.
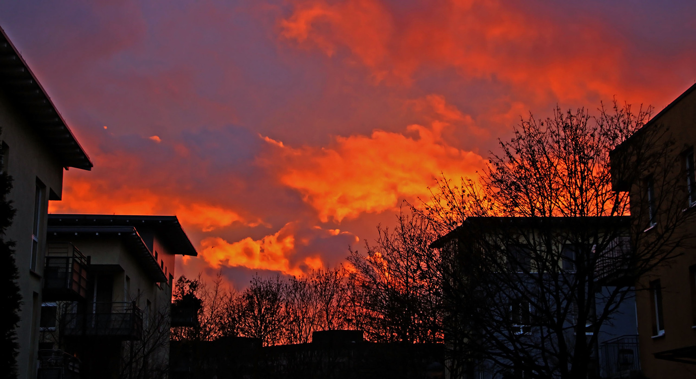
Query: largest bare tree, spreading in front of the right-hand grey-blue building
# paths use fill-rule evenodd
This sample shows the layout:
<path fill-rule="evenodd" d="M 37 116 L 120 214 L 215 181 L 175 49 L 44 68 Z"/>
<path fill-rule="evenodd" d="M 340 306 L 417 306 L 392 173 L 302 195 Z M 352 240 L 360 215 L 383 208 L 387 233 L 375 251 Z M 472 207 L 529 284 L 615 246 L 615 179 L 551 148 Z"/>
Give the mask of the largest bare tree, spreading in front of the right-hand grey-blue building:
<path fill-rule="evenodd" d="M 585 109 L 530 116 L 500 141 L 502 153 L 477 180 L 443 178 L 432 199 L 413 207 L 443 236 L 432 280 L 443 284 L 440 304 L 450 318 L 443 333 L 469 346 L 462 351 L 475 347 L 473 357 L 500 374 L 596 375 L 602 325 L 631 297 L 635 279 L 690 238 L 674 238 L 688 215 L 679 212 L 678 178 L 664 169 L 678 156 L 664 130 L 637 134 L 638 154 L 610 162 L 610 151 L 649 116 L 616 102 L 598 116 Z M 646 196 L 656 196 L 644 201 L 669 212 L 670 222 L 644 233 L 652 216 L 631 215 L 628 194 L 612 190 L 612 172 L 634 183 L 665 173 L 644 180 L 652 186 Z"/>

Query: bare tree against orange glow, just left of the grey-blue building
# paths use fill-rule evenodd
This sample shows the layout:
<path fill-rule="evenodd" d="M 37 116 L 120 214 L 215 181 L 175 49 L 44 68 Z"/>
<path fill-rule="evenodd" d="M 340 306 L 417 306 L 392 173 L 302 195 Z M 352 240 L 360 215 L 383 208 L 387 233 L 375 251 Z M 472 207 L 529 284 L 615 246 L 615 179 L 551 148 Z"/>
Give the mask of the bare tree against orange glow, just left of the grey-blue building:
<path fill-rule="evenodd" d="M 365 242 L 365 254 L 350 250 L 362 326 L 373 341 L 441 341 L 440 284 L 427 262 L 434 233 L 425 218 L 398 221 L 393 231 L 378 226 L 377 245 Z"/>

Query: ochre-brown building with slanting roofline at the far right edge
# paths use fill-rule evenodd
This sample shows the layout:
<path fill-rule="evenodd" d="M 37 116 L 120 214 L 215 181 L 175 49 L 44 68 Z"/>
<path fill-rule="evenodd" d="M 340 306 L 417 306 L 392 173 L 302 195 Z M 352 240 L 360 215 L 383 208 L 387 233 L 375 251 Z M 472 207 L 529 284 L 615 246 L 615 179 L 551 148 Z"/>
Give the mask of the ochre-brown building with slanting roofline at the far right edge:
<path fill-rule="evenodd" d="M 628 192 L 633 228 L 644 245 L 663 245 L 663 256 L 654 257 L 663 264 L 636 284 L 641 366 L 649 378 L 696 375 L 695 144 L 696 84 L 611 153 L 612 186 Z M 638 175 L 622 169 L 649 163 L 651 155 L 662 159 Z"/>

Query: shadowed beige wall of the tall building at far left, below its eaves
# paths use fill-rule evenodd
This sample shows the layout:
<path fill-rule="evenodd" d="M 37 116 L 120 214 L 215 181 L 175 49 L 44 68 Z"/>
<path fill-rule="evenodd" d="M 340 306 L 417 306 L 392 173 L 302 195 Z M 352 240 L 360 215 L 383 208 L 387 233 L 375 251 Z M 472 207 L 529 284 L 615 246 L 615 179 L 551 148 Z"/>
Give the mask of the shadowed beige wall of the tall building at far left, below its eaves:
<path fill-rule="evenodd" d="M 0 92 L 0 140 L 8 145 L 8 173 L 13 176 L 10 199 L 17 214 L 6 238 L 15 240 L 15 258 L 19 268 L 19 288 L 22 293 L 22 309 L 19 313 L 19 378 L 34 378 L 37 365 L 38 322 L 41 305 L 41 275 L 46 249 L 46 226 L 49 194 L 59 198 L 63 189 L 63 168 L 56 157 L 40 141 L 32 127 L 17 114 L 6 95 Z M 46 186 L 42 203 L 39 231 L 39 256 L 37 269 L 30 272 L 31 234 L 35 185 L 37 178 Z"/>

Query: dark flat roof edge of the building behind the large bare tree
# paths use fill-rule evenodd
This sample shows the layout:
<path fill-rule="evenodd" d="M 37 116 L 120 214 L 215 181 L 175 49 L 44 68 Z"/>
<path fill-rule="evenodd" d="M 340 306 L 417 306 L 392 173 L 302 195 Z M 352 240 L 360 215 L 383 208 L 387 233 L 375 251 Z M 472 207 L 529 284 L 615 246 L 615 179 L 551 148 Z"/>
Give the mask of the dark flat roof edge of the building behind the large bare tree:
<path fill-rule="evenodd" d="M 617 224 L 628 226 L 631 217 L 629 216 L 593 216 L 593 217 L 468 217 L 464 223 L 454 228 L 449 233 L 442 235 L 434 240 L 429 247 L 439 249 L 445 242 L 456 238 L 459 233 L 464 233 L 472 227 L 476 227 L 476 232 L 482 228 L 514 226 L 514 227 L 538 227 L 538 226 L 558 226 L 562 228 L 602 228 Z"/>

